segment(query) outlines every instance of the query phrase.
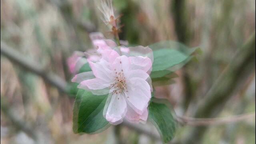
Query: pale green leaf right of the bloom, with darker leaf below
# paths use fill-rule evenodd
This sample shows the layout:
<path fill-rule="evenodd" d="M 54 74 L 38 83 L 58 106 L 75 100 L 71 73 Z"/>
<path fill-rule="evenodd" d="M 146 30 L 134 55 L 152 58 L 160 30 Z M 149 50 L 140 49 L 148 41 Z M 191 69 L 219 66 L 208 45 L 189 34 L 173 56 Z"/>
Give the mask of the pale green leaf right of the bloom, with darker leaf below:
<path fill-rule="evenodd" d="M 199 52 L 199 48 L 188 48 L 182 43 L 163 41 L 149 46 L 153 50 L 154 62 L 152 65 L 153 86 L 163 86 L 174 83 L 173 72 L 180 69 L 191 60 L 192 54 Z"/>

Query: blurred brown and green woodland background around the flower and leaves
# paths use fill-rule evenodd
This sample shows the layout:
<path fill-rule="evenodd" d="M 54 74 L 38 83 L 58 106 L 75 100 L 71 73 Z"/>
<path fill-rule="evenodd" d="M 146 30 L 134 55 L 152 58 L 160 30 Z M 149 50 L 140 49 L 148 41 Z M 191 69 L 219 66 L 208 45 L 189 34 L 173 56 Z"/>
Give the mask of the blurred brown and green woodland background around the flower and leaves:
<path fill-rule="evenodd" d="M 55 74 L 70 82 L 66 59 L 74 50 L 92 48 L 89 33 L 113 38 L 100 19 L 100 1 L 0 2 L 1 144 L 115 143 L 113 126 L 99 134 L 74 134 L 75 97 L 59 91 L 45 76 Z M 255 113 L 255 0 L 114 0 L 113 4 L 116 16 L 123 14 L 121 40 L 142 46 L 174 40 L 200 47 L 202 54 L 176 72 L 175 84 L 156 88 L 159 97 L 170 101 L 173 113 L 196 118 Z M 14 58 L 3 54 L 4 49 Z M 36 63 L 36 70 L 29 71 L 14 60 L 17 57 Z M 150 123 L 144 127 L 157 133 Z M 127 144 L 162 143 L 126 126 L 120 137 Z M 254 144 L 255 118 L 220 125 L 179 124 L 170 143 Z"/>

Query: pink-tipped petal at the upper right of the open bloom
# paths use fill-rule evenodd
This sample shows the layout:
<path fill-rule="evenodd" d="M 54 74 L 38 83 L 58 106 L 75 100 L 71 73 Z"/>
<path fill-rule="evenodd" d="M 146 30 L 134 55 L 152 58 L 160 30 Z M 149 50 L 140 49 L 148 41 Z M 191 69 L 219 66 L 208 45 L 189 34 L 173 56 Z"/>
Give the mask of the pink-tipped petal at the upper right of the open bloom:
<path fill-rule="evenodd" d="M 150 60 L 150 58 L 148 57 L 142 57 L 142 56 L 131 56 L 129 57 L 130 63 L 131 63 L 131 68 L 133 70 L 144 70 L 145 72 L 148 72 L 152 69 L 152 62 Z M 149 72 L 149 73 L 150 73 Z"/>

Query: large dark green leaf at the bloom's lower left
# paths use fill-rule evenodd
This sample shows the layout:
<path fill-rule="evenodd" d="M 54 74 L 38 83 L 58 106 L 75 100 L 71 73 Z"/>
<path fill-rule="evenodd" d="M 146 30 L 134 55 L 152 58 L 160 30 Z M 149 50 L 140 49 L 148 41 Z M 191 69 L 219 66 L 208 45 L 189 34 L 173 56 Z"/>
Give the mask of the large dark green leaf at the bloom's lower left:
<path fill-rule="evenodd" d="M 107 98 L 108 95 L 96 96 L 86 90 L 78 90 L 73 111 L 74 133 L 95 134 L 110 126 L 103 117 Z"/>

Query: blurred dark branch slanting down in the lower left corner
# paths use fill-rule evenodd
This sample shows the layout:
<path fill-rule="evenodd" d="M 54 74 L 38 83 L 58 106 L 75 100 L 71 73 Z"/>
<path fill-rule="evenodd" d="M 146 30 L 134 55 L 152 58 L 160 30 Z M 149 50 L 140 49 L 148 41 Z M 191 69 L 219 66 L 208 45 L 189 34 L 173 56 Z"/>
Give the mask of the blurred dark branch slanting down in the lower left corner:
<path fill-rule="evenodd" d="M 15 128 L 18 128 L 18 130 L 22 130 L 28 136 L 30 136 L 33 140 L 37 141 L 38 136 L 36 135 L 36 132 L 26 124 L 26 122 L 20 120 L 15 114 L 13 114 L 9 109 L 9 104 L 7 104 L 6 100 L 2 99 L 1 96 L 1 110 L 6 115 L 7 118 L 12 122 L 12 124 L 15 126 Z"/>

